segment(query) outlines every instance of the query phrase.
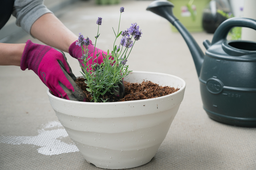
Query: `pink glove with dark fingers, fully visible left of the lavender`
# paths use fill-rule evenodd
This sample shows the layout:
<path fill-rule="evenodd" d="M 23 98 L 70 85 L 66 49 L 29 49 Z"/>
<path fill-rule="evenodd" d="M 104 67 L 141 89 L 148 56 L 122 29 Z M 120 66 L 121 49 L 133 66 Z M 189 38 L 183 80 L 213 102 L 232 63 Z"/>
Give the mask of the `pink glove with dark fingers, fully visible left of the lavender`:
<path fill-rule="evenodd" d="M 50 46 L 26 42 L 21 70 L 33 70 L 51 92 L 60 98 L 85 101 L 82 90 L 74 82 L 76 77 L 66 60 L 64 53 Z"/>

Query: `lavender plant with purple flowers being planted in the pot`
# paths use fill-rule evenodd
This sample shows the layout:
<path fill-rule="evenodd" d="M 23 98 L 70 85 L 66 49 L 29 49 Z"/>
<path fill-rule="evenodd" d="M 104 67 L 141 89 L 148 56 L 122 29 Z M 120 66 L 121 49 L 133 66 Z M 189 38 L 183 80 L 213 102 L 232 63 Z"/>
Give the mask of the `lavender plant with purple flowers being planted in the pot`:
<path fill-rule="evenodd" d="M 100 36 L 99 26 L 102 24 L 102 18 L 98 17 L 96 22 L 96 24 L 98 24 L 98 32 L 95 36 L 96 40 L 92 56 L 88 53 L 88 45 L 90 44 L 88 37 L 84 38 L 84 36 L 80 33 L 78 41 L 76 42 L 76 45 L 82 47 L 81 59 L 83 59 L 84 66 L 80 65 L 83 71 L 81 73 L 84 76 L 84 82 L 88 86 L 86 90 L 92 95 L 93 102 L 106 102 L 107 99 L 104 100 L 100 98 L 100 96 L 103 96 L 106 94 L 106 92 L 109 92 L 110 94 L 116 94 L 116 96 L 118 96 L 118 90 L 116 89 L 118 89 L 120 86 L 124 86 L 122 81 L 124 80 L 124 77 L 126 77 L 129 72 L 131 72 L 128 70 L 128 65 L 126 65 L 126 62 L 128 61 L 128 56 L 130 55 L 135 42 L 140 40 L 142 32 L 139 30 L 137 23 L 132 24 L 132 26 L 130 26 L 130 28 L 127 30 L 119 32 L 122 12 L 124 12 L 124 7 L 120 8 L 118 31 L 115 32 L 113 28 L 114 34 L 116 36 L 113 50 L 111 52 L 108 50 L 107 55 L 102 52 L 101 55 L 104 57 L 101 64 L 98 64 L 98 56 L 100 55 L 100 52 L 98 53 L 98 51 L 95 51 L 95 47 L 97 39 Z M 117 46 L 116 40 L 120 36 L 122 38 L 120 40 L 119 46 Z M 134 42 L 132 38 L 134 38 Z M 96 58 L 93 58 L 94 54 L 96 54 Z M 92 64 L 89 64 L 90 60 L 93 61 Z"/>

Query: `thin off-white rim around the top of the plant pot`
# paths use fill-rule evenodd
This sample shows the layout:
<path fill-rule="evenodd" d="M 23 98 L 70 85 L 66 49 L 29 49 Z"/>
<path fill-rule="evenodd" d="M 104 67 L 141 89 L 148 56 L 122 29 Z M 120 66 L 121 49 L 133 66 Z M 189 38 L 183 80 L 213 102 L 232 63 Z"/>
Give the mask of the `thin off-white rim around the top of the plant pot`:
<path fill-rule="evenodd" d="M 143 73 L 146 73 L 146 74 L 160 74 L 160 75 L 172 76 L 172 77 L 174 77 L 174 78 L 180 80 L 180 81 L 183 83 L 183 85 L 182 85 L 182 87 L 180 88 L 180 90 L 178 90 L 177 92 L 174 92 L 174 93 L 172 93 L 172 94 L 168 94 L 168 95 L 166 95 L 166 96 L 161 96 L 161 97 L 157 97 L 157 98 L 150 98 L 150 99 L 143 99 L 143 100 L 132 100 L 132 101 L 124 101 L 124 102 L 106 102 L 106 103 L 103 103 L 103 102 L 102 102 L 102 103 L 79 102 L 79 101 L 73 101 L 73 100 L 67 100 L 67 99 L 59 98 L 59 97 L 56 97 L 56 96 L 54 96 L 53 94 L 51 94 L 49 88 L 46 90 L 46 92 L 47 92 L 47 94 L 48 94 L 49 97 L 51 97 L 51 98 L 53 98 L 53 99 L 55 99 L 55 100 L 60 100 L 60 102 L 69 102 L 69 103 L 77 103 L 77 104 L 80 103 L 80 104 L 90 104 L 90 105 L 105 105 L 105 104 L 107 104 L 107 105 L 110 105 L 110 104 L 116 105 L 116 104 L 134 103 L 134 102 L 145 102 L 145 101 L 148 101 L 148 102 L 149 102 L 149 101 L 156 100 L 156 99 L 164 99 L 164 98 L 168 98 L 168 97 L 170 97 L 170 96 L 179 94 L 179 93 L 181 93 L 181 92 L 186 88 L 186 82 L 185 82 L 182 78 L 180 78 L 180 77 L 178 77 L 178 76 L 174 76 L 174 75 L 172 75 L 172 74 L 158 73 L 158 72 L 144 72 L 144 71 L 132 71 L 132 72 L 134 72 L 134 73 L 142 73 L 142 74 L 143 74 Z M 132 72 L 131 72 L 131 73 L 132 73 Z M 76 77 L 78 77 L 78 76 L 76 76 Z"/>

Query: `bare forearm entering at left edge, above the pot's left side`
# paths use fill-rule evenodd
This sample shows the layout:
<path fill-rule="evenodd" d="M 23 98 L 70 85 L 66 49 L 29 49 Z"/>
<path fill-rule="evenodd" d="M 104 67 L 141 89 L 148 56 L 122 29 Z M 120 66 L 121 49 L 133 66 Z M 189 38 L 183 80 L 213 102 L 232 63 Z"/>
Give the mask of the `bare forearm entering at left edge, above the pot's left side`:
<path fill-rule="evenodd" d="M 20 66 L 22 53 L 26 44 L 0 43 L 0 65 Z"/>

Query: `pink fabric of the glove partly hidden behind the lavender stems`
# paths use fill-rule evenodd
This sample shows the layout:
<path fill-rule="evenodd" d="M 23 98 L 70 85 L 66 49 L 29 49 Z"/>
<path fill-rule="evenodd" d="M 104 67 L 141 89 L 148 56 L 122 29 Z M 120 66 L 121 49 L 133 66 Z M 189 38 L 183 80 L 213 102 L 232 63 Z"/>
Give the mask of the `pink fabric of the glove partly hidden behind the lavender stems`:
<path fill-rule="evenodd" d="M 89 50 L 89 56 L 93 56 L 93 51 L 94 51 L 94 45 L 92 45 L 92 41 L 90 40 L 90 44 L 88 45 L 88 50 Z M 68 49 L 68 52 L 70 54 L 70 56 L 78 59 L 78 62 L 80 63 L 80 66 L 83 66 L 84 67 L 84 64 L 82 63 L 83 60 L 82 59 L 79 59 L 79 58 L 82 58 L 82 47 L 81 46 L 78 46 L 76 45 L 76 41 L 73 42 L 69 49 Z M 100 53 L 100 55 L 98 56 L 98 64 L 101 64 L 103 62 L 103 56 L 102 56 L 102 52 L 103 54 L 107 55 L 107 52 L 106 51 L 103 51 L 103 50 L 100 50 L 98 48 L 95 48 L 95 52 L 94 52 L 94 56 L 93 58 L 96 59 L 97 56 L 96 54 Z M 94 63 L 96 63 L 97 60 L 94 60 Z M 89 60 L 88 64 L 92 64 L 92 60 Z"/>

